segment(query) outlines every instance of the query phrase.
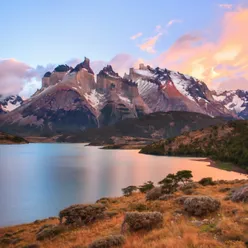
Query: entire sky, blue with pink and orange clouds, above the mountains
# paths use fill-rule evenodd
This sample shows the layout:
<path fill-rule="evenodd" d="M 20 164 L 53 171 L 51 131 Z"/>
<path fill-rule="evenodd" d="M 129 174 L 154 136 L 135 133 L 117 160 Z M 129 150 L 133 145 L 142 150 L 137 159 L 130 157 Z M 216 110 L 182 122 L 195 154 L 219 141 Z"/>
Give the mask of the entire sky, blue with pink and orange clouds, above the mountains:
<path fill-rule="evenodd" d="M 144 62 L 248 90 L 248 0 L 2 0 L 0 95 L 28 97 L 84 57 L 121 75 Z"/>

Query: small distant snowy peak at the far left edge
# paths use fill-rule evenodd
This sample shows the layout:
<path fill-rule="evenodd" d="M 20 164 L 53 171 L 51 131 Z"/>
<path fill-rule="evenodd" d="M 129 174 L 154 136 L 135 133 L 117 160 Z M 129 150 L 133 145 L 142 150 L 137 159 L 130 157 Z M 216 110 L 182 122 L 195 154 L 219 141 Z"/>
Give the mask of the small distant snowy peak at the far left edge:
<path fill-rule="evenodd" d="M 0 114 L 6 114 L 23 104 L 23 99 L 18 96 L 8 96 L 3 98 L 0 96 Z"/>

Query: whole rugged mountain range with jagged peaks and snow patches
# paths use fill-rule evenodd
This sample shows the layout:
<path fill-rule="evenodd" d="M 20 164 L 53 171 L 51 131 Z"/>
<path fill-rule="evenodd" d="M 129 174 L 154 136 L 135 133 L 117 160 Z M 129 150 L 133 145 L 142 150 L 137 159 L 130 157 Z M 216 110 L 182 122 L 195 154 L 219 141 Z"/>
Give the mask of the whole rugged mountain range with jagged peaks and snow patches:
<path fill-rule="evenodd" d="M 144 64 L 123 77 L 111 65 L 95 75 L 88 58 L 75 68 L 59 65 L 45 73 L 41 89 L 8 111 L 12 98 L 0 103 L 0 129 L 23 136 L 76 133 L 154 112 L 248 118 L 246 91 L 217 94 L 194 77 Z"/>

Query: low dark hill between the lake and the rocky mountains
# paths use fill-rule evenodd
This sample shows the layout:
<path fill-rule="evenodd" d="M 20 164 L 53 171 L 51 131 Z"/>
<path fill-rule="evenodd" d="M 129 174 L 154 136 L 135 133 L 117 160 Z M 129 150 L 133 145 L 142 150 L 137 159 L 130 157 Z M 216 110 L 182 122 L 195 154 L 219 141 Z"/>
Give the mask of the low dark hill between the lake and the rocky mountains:
<path fill-rule="evenodd" d="M 112 126 L 89 128 L 83 132 L 65 134 L 60 142 L 87 142 L 92 145 L 143 146 L 155 140 L 171 138 L 185 131 L 223 124 L 222 118 L 192 112 L 156 112 L 139 118 L 125 119 Z"/>

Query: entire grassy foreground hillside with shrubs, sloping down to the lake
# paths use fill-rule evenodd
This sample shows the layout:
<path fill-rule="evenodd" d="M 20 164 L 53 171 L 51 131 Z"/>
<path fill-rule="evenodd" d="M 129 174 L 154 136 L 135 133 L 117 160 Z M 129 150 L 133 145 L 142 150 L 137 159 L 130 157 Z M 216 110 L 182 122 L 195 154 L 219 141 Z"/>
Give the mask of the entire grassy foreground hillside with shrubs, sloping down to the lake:
<path fill-rule="evenodd" d="M 245 248 L 248 180 L 206 178 L 202 185 L 191 177 L 191 171 L 167 175 L 178 184 L 173 194 L 160 198 L 147 195 L 167 187 L 165 179 L 161 187 L 145 183 L 151 188 L 146 193 L 102 198 L 70 206 L 59 218 L 0 228 L 0 247 Z"/>

